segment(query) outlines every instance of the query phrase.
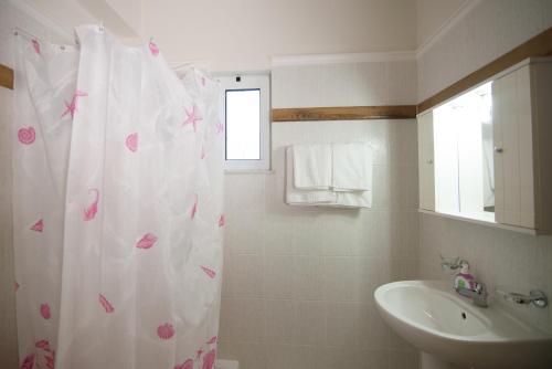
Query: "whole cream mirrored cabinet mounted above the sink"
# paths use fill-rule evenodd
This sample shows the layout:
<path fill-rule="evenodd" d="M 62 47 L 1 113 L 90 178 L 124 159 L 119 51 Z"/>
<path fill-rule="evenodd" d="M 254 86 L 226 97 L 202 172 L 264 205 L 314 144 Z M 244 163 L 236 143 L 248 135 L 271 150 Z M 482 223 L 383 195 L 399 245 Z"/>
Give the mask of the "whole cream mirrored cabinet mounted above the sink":
<path fill-rule="evenodd" d="M 552 233 L 552 59 L 423 112 L 417 128 L 421 211 Z"/>

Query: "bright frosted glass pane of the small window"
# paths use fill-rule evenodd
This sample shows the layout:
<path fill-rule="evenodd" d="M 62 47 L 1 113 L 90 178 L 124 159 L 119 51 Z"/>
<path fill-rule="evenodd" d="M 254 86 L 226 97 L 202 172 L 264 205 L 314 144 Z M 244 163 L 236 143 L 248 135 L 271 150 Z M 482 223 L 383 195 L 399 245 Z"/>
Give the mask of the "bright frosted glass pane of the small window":
<path fill-rule="evenodd" d="M 261 89 L 226 89 L 226 160 L 261 159 Z"/>

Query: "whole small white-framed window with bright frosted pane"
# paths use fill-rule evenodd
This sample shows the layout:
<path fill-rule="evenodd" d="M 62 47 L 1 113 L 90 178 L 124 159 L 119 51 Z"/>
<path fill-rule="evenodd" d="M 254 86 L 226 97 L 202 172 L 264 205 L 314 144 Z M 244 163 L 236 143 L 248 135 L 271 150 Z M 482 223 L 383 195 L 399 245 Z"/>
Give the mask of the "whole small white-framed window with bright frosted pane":
<path fill-rule="evenodd" d="M 225 117 L 225 168 L 270 168 L 269 76 L 234 74 L 219 77 Z"/>

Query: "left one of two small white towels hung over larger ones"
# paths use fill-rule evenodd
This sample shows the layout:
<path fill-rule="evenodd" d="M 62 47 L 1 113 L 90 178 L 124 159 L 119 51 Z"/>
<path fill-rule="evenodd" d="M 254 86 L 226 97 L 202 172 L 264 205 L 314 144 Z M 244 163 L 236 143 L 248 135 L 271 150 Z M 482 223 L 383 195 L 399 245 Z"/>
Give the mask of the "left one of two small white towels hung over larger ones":
<path fill-rule="evenodd" d="M 331 187 L 331 145 L 295 145 L 294 186 L 302 190 Z"/>

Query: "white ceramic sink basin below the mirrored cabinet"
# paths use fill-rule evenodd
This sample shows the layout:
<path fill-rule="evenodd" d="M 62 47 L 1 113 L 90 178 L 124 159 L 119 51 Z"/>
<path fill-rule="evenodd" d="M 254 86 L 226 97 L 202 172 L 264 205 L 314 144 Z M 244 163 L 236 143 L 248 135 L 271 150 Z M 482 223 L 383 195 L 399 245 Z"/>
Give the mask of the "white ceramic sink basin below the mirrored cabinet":
<path fill-rule="evenodd" d="M 552 335 L 496 306 L 480 308 L 440 281 L 403 281 L 374 292 L 383 319 L 422 351 L 479 368 L 552 368 Z"/>

